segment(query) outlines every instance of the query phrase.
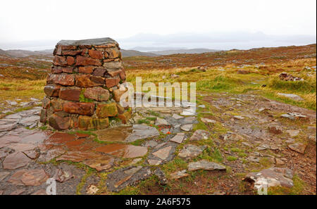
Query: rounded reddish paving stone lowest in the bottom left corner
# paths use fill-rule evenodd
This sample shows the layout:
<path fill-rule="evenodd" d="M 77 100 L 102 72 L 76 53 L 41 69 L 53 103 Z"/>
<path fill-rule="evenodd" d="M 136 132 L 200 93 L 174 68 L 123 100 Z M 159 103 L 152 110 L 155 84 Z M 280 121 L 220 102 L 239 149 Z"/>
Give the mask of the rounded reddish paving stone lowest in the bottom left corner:
<path fill-rule="evenodd" d="M 21 181 L 26 186 L 39 186 L 46 182 L 49 176 L 43 169 L 28 170 L 22 175 Z"/>

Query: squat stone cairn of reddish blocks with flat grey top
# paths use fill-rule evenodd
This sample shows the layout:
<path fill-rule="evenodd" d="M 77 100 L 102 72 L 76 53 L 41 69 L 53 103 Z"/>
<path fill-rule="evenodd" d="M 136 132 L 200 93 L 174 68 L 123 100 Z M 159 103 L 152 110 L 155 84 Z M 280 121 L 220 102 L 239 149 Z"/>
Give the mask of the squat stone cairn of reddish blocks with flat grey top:
<path fill-rule="evenodd" d="M 131 109 L 119 104 L 127 91 L 119 50 L 110 38 L 58 42 L 40 121 L 58 130 L 105 129 L 115 118 L 126 123 Z"/>

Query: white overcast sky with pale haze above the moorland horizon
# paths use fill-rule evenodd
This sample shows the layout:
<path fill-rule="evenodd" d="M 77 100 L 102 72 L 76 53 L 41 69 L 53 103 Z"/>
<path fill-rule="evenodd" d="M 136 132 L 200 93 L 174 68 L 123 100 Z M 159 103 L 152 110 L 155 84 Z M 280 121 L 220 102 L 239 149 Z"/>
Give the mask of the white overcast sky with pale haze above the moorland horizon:
<path fill-rule="evenodd" d="M 311 44 L 316 43 L 316 0 L 10 0 L 1 1 L 0 31 L 2 49 L 98 37 L 119 40 L 123 48 L 251 48 L 282 44 L 276 39 L 285 38 L 293 39 L 285 44 Z M 243 34 L 262 39 L 248 45 L 238 38 L 230 45 Z M 194 44 L 201 36 L 204 42 Z"/>

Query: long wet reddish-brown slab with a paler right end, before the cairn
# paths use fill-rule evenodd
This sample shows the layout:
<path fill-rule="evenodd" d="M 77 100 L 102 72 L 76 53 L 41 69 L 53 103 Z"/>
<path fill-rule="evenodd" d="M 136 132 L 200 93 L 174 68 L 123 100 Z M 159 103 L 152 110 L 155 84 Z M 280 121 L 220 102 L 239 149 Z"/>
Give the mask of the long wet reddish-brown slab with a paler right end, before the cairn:
<path fill-rule="evenodd" d="M 122 158 L 137 158 L 147 154 L 147 147 L 130 144 L 107 144 L 95 149 L 98 152 Z"/>

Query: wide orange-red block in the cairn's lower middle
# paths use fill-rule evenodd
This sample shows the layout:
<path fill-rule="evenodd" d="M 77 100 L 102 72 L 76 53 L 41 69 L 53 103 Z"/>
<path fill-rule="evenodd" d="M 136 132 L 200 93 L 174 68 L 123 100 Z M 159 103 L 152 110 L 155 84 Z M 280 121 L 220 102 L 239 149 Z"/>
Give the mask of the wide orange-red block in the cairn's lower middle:
<path fill-rule="evenodd" d="M 63 110 L 66 113 L 79 114 L 79 115 L 93 115 L 94 103 L 67 102 L 67 103 L 64 103 Z"/>

